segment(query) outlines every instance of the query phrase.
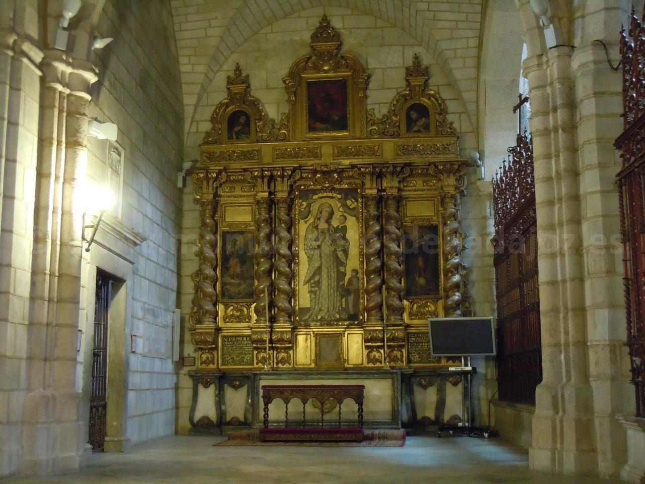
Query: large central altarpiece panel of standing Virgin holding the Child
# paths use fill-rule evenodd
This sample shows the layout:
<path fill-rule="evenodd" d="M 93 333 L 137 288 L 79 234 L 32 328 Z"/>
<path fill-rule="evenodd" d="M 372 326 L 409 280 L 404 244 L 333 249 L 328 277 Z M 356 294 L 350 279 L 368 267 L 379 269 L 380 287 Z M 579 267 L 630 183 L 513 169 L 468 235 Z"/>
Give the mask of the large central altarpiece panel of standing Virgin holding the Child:
<path fill-rule="evenodd" d="M 357 321 L 362 314 L 358 190 L 302 190 L 297 212 L 299 320 Z"/>

